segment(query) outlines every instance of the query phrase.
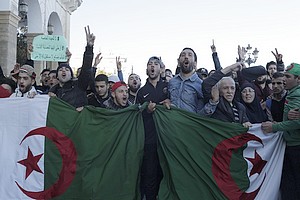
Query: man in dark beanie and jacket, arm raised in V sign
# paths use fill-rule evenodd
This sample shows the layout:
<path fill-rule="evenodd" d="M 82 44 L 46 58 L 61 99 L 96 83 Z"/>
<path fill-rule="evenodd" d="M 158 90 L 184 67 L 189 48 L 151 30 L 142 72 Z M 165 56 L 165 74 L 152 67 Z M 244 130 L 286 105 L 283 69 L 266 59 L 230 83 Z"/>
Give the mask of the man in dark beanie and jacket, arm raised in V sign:
<path fill-rule="evenodd" d="M 58 97 L 71 104 L 76 110 L 82 110 L 88 104 L 86 90 L 91 77 L 91 67 L 93 62 L 93 47 L 95 36 L 90 33 L 89 27 L 86 29 L 87 46 L 85 48 L 81 73 L 77 80 L 73 80 L 74 74 L 68 63 L 60 63 L 57 68 L 58 84 L 49 90 L 49 96 Z"/>

